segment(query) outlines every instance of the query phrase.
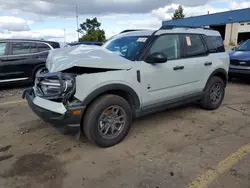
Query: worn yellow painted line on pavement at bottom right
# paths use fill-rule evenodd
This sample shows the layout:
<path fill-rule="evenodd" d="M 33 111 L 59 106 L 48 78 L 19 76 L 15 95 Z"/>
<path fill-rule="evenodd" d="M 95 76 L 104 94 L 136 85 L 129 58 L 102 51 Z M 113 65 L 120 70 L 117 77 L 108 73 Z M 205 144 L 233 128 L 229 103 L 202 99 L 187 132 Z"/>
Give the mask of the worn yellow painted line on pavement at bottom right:
<path fill-rule="evenodd" d="M 206 171 L 203 175 L 191 182 L 187 188 L 207 188 L 219 175 L 231 169 L 248 153 L 250 153 L 250 144 L 241 147 L 237 152 L 229 155 L 212 170 Z"/>

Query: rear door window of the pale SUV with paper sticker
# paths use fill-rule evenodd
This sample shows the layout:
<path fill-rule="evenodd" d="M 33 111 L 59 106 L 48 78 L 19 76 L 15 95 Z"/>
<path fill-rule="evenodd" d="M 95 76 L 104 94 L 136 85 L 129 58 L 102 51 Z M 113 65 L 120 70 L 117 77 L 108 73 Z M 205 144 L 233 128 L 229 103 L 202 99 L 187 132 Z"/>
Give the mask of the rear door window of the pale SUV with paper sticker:
<path fill-rule="evenodd" d="M 206 48 L 199 35 L 182 35 L 184 42 L 184 57 L 201 56 L 206 54 Z"/>

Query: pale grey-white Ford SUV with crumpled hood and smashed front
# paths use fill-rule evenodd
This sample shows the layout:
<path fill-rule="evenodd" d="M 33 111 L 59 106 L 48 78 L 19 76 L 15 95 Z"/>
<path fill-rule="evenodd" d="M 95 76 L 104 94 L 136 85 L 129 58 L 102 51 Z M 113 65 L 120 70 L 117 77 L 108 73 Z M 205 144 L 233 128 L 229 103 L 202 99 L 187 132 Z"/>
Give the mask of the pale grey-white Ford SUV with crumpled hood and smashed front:
<path fill-rule="evenodd" d="M 52 50 L 46 66 L 23 94 L 30 108 L 109 147 L 125 138 L 134 118 L 192 101 L 217 109 L 229 55 L 217 31 L 163 26 L 123 32 L 102 47 Z"/>

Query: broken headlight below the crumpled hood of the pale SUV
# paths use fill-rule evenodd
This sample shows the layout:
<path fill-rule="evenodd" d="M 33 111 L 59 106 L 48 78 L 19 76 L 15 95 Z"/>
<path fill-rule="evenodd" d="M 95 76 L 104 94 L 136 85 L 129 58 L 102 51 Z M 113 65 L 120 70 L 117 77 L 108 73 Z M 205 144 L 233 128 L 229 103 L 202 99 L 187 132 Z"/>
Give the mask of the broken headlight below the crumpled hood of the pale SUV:
<path fill-rule="evenodd" d="M 61 72 L 39 74 L 35 92 L 46 99 L 68 99 L 75 93 L 75 75 Z"/>

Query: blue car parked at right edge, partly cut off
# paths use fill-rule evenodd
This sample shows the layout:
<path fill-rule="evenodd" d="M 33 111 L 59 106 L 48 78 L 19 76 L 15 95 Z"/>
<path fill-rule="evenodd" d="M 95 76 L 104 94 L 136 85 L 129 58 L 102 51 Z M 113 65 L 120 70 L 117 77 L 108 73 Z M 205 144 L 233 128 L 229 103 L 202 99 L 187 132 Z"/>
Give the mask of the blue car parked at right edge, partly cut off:
<path fill-rule="evenodd" d="M 250 39 L 232 50 L 229 56 L 229 78 L 246 76 L 250 78 Z"/>

